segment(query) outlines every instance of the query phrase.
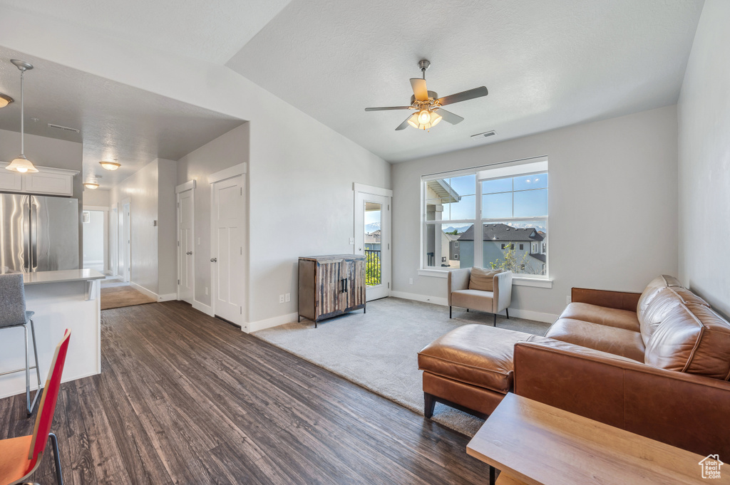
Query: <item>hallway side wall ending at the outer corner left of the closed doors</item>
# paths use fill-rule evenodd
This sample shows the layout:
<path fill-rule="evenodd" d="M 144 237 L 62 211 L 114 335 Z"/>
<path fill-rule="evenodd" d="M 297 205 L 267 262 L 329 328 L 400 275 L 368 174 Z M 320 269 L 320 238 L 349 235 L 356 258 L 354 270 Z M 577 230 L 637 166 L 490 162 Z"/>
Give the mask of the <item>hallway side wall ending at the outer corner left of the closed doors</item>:
<path fill-rule="evenodd" d="M 148 163 L 111 190 L 112 204 L 131 199 L 131 282 L 158 293 L 158 171 Z M 119 206 L 121 214 L 121 205 Z"/>

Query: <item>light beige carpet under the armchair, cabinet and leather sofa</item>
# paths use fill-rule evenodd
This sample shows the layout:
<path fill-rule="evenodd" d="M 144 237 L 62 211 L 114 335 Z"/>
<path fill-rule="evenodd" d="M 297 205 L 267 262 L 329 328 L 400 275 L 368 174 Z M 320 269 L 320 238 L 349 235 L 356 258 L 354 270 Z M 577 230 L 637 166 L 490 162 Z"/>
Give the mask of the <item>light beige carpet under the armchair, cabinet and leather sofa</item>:
<path fill-rule="evenodd" d="M 367 314 L 355 311 L 320 322 L 289 323 L 253 333 L 277 347 L 296 354 L 360 384 L 383 397 L 423 414 L 418 351 L 439 336 L 461 325 L 492 325 L 491 314 L 400 298 L 384 298 L 367 304 Z M 548 324 L 497 317 L 497 326 L 544 335 Z M 434 421 L 473 436 L 483 421 L 448 406 L 437 404 Z"/>

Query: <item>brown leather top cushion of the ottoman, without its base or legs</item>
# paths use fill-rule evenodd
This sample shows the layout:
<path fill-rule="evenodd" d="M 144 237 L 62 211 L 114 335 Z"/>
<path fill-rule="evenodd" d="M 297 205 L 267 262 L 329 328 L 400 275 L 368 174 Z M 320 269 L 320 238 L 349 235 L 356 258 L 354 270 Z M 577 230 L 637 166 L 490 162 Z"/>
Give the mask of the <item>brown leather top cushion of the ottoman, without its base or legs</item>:
<path fill-rule="evenodd" d="M 418 368 L 507 394 L 513 384 L 515 344 L 529 337 L 499 327 L 464 325 L 418 352 Z"/>

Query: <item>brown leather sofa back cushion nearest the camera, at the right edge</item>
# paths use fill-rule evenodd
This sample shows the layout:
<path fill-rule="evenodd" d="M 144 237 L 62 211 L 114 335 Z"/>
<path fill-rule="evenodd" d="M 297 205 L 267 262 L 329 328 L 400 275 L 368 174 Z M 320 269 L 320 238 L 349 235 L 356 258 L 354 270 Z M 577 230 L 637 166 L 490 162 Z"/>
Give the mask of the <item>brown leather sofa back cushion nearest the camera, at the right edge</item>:
<path fill-rule="evenodd" d="M 645 363 L 715 379 L 730 379 L 730 323 L 697 303 L 680 303 L 654 328 Z"/>

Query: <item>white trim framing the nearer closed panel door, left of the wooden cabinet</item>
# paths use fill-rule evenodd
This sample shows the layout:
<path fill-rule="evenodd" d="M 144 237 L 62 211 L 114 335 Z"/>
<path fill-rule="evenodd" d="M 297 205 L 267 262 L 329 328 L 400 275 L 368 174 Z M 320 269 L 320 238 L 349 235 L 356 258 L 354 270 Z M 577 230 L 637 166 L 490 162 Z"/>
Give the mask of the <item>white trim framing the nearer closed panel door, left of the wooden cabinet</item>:
<path fill-rule="evenodd" d="M 243 294 L 241 295 L 241 301 L 242 301 L 242 311 L 241 311 L 241 318 L 239 322 L 233 322 L 237 323 L 237 325 L 241 326 L 241 330 L 244 332 L 248 332 L 248 263 L 247 263 L 247 255 L 248 255 L 248 217 L 246 212 L 247 207 L 247 197 L 248 197 L 248 189 L 246 187 L 246 163 L 239 163 L 237 166 L 233 166 L 230 168 L 225 168 L 219 172 L 216 172 L 215 174 L 211 174 L 208 176 L 208 181 L 210 182 L 210 314 L 215 317 L 215 299 L 216 299 L 216 290 L 215 287 L 215 280 L 217 279 L 217 273 L 216 273 L 216 266 L 218 263 L 213 263 L 212 258 L 218 257 L 218 255 L 214 255 L 213 252 L 215 251 L 215 247 L 217 247 L 218 244 L 218 231 L 215 228 L 215 184 L 218 182 L 223 182 L 227 179 L 232 179 L 234 177 L 240 176 L 241 177 L 241 188 L 242 188 L 242 198 L 241 198 L 241 241 L 243 246 L 246 249 L 245 255 L 243 255 L 242 258 L 242 268 L 241 268 L 241 275 L 243 278 Z M 243 310 L 246 310 L 246 313 L 243 313 Z"/>

